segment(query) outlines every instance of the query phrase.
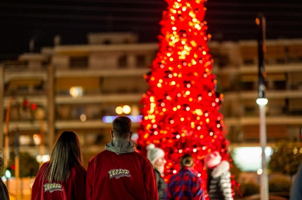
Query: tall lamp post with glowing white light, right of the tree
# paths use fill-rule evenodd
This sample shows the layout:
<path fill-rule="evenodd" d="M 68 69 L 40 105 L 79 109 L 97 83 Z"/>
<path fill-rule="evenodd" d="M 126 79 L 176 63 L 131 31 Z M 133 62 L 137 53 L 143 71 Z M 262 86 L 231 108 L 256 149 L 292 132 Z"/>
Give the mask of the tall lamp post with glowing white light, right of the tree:
<path fill-rule="evenodd" d="M 265 123 L 265 105 L 268 100 L 265 98 L 265 70 L 264 70 L 264 52 L 265 46 L 265 17 L 259 15 L 256 18 L 256 24 L 258 26 L 258 99 L 257 104 L 259 105 L 259 138 L 262 148 L 262 174 L 260 175 L 260 196 L 261 200 L 268 200 L 268 177 L 267 177 L 267 163 L 265 160 L 265 147 L 266 147 L 266 123 Z"/>

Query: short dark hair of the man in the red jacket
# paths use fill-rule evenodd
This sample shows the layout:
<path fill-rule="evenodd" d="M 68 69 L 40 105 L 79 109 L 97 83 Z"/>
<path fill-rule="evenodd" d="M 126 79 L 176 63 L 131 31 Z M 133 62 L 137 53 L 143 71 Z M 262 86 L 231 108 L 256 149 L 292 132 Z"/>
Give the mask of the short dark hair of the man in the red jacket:
<path fill-rule="evenodd" d="M 131 119 L 126 116 L 119 116 L 112 122 L 113 134 L 118 138 L 126 139 L 132 129 Z"/>

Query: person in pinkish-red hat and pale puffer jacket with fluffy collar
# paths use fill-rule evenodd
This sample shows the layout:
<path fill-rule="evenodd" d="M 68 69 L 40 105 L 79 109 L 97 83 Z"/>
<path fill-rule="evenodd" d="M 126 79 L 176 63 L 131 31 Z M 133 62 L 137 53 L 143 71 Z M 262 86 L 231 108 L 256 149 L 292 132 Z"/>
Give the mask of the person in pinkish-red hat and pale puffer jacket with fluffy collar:
<path fill-rule="evenodd" d="M 210 200 L 233 200 L 230 164 L 221 159 L 218 151 L 211 152 L 204 158 L 208 174 L 207 193 Z"/>

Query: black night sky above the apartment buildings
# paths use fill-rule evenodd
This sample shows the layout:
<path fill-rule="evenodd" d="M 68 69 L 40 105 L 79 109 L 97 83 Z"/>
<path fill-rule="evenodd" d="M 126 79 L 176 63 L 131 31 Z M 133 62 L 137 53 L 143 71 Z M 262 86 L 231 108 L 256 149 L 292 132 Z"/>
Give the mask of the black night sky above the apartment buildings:
<path fill-rule="evenodd" d="M 140 42 L 157 42 L 164 0 L 1 0 L 0 60 L 62 44 L 86 43 L 91 32 L 133 32 Z M 208 0 L 206 21 L 212 40 L 256 38 L 255 17 L 263 13 L 267 38 L 302 38 L 302 1 Z"/>

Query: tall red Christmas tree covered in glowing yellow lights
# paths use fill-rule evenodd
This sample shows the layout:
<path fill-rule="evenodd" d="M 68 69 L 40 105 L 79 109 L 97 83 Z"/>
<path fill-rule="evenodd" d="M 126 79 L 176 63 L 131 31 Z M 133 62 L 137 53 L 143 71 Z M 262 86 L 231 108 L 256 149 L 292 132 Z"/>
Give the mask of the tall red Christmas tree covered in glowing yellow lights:
<path fill-rule="evenodd" d="M 159 52 L 144 75 L 150 88 L 141 100 L 138 150 L 145 154 L 146 145 L 154 143 L 165 151 L 166 181 L 179 171 L 180 157 L 192 154 L 198 176 L 206 180 L 205 155 L 219 151 L 223 159 L 228 157 L 218 112 L 223 94 L 216 91 L 207 47 L 211 36 L 205 33 L 206 0 L 166 1 Z"/>

